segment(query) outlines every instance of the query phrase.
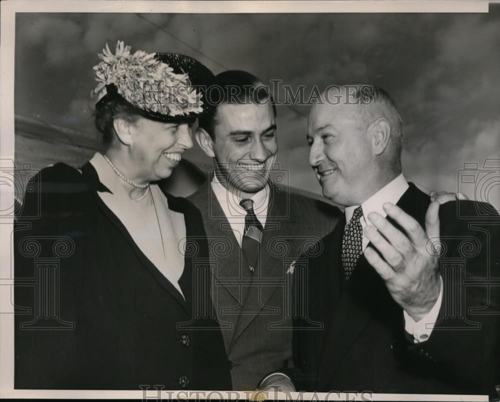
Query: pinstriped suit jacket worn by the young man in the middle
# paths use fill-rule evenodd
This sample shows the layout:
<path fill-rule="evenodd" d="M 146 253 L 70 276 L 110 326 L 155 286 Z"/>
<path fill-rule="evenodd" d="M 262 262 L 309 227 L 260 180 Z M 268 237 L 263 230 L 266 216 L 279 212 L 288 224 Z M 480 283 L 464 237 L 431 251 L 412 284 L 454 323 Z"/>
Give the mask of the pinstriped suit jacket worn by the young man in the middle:
<path fill-rule="evenodd" d="M 271 185 L 253 277 L 207 180 L 188 198 L 203 216 L 212 259 L 214 301 L 233 388 L 254 389 L 264 375 L 291 366 L 290 264 L 336 224 L 339 210 Z M 229 217 L 230 219 L 230 217 Z"/>

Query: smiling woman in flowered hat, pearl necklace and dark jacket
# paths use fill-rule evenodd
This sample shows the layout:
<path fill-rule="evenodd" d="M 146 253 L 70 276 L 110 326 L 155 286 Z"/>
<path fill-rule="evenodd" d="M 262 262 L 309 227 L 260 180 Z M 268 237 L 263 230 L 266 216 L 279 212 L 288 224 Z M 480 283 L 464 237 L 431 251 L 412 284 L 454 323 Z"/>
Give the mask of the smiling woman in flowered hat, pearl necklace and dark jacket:
<path fill-rule="evenodd" d="M 201 216 L 154 184 L 192 147 L 194 86 L 211 73 L 122 42 L 99 57 L 106 152 L 43 169 L 15 231 L 17 285 L 31 286 L 15 289 L 14 387 L 230 389 Z"/>

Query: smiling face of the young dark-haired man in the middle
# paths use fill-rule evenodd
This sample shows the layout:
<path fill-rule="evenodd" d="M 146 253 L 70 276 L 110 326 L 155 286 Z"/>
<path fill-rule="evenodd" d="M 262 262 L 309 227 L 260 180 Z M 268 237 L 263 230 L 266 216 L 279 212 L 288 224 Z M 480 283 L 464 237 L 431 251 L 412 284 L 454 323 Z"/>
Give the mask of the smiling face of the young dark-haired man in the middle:
<path fill-rule="evenodd" d="M 219 105 L 211 148 L 225 187 L 243 196 L 263 189 L 278 145 L 272 106 Z"/>

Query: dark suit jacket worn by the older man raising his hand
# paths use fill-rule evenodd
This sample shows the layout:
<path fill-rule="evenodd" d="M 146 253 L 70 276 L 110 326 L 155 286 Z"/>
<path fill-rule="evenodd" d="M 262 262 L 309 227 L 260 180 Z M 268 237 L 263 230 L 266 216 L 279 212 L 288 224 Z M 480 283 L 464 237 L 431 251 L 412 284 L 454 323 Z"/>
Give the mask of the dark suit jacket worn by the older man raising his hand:
<path fill-rule="evenodd" d="M 429 202 L 410 184 L 397 205 L 425 227 Z M 459 210 L 456 202 L 442 205 L 439 218 L 443 302 L 423 343 L 409 341 L 401 307 L 363 255 L 349 281 L 343 279 L 345 218 L 323 239 L 324 252 L 303 261 L 299 271 L 307 277 L 308 292 L 296 297 L 309 316 L 296 320 L 294 333 L 299 387 L 495 394 L 493 386 L 500 383 L 499 218 L 488 204 L 471 201 L 460 201 Z"/>

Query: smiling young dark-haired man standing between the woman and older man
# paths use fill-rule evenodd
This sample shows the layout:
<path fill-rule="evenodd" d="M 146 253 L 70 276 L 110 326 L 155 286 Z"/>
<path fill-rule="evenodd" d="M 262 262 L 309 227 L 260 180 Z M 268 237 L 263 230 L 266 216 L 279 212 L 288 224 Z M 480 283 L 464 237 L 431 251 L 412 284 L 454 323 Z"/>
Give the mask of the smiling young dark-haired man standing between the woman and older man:
<path fill-rule="evenodd" d="M 254 389 L 292 366 L 293 261 L 333 229 L 340 211 L 288 191 L 287 172 L 274 162 L 275 107 L 256 77 L 219 74 L 205 99 L 213 107 L 196 141 L 215 169 L 189 200 L 208 236 L 233 389 Z"/>

